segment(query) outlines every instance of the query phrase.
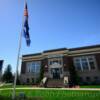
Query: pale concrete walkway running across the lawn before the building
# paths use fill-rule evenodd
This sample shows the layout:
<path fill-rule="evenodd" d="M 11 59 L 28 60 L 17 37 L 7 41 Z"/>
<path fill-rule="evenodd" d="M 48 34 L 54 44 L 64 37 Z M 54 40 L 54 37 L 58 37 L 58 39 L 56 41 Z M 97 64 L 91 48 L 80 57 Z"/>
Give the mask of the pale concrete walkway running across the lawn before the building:
<path fill-rule="evenodd" d="M 2 90 L 12 90 L 13 88 L 1 88 Z M 38 87 L 29 87 L 29 88 L 16 88 L 16 90 L 88 90 L 88 91 L 100 91 L 100 88 L 38 88 Z"/>

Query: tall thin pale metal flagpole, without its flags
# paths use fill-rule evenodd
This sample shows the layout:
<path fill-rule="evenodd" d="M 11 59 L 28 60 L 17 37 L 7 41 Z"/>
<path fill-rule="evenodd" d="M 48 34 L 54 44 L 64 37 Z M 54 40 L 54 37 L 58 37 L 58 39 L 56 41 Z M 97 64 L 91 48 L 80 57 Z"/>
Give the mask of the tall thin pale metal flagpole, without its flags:
<path fill-rule="evenodd" d="M 26 0 L 24 0 L 24 2 L 26 3 Z M 14 77 L 12 100 L 15 100 L 15 97 L 16 97 L 16 82 L 17 82 L 17 74 L 18 74 L 18 67 L 19 67 L 19 61 L 20 61 L 21 45 L 22 45 L 22 33 L 23 33 L 23 25 L 22 25 L 21 33 L 19 34 L 18 54 L 17 54 L 17 63 L 16 63 L 16 72 L 15 72 L 15 77 Z"/>

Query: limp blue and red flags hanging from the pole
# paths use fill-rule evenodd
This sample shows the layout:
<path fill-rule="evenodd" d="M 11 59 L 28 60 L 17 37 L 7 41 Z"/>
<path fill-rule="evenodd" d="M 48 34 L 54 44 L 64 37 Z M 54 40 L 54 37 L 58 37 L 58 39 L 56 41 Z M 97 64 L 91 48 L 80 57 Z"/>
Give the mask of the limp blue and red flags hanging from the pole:
<path fill-rule="evenodd" d="M 26 44 L 27 44 L 27 46 L 30 46 L 31 40 L 30 40 L 30 35 L 29 35 L 27 3 L 25 3 L 25 9 L 24 9 L 24 25 L 23 25 L 23 32 L 24 32 L 24 37 L 25 37 L 25 39 L 26 39 Z"/>

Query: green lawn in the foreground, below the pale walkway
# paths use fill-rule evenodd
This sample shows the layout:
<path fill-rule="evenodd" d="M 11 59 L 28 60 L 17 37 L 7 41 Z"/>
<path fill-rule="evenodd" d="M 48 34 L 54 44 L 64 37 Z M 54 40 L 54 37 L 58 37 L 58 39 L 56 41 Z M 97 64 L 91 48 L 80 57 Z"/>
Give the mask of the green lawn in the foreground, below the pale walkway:
<path fill-rule="evenodd" d="M 87 90 L 16 90 L 18 96 L 20 92 L 26 94 L 26 100 L 100 100 L 100 91 Z M 12 90 L 0 91 L 0 100 L 11 100 Z M 5 97 L 5 99 L 4 99 Z"/>

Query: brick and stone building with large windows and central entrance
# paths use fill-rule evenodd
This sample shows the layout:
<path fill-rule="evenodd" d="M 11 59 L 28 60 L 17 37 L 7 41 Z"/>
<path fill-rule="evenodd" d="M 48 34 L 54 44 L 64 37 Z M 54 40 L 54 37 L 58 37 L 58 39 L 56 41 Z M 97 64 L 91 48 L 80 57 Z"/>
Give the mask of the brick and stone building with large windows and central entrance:
<path fill-rule="evenodd" d="M 69 83 L 73 82 L 71 76 L 74 73 L 71 72 L 71 67 L 77 73 L 79 84 L 99 84 L 100 45 L 60 48 L 23 55 L 21 83 L 34 84 L 40 78 L 42 69 L 43 78 L 48 80 L 48 87 L 62 87 L 66 78 Z"/>

